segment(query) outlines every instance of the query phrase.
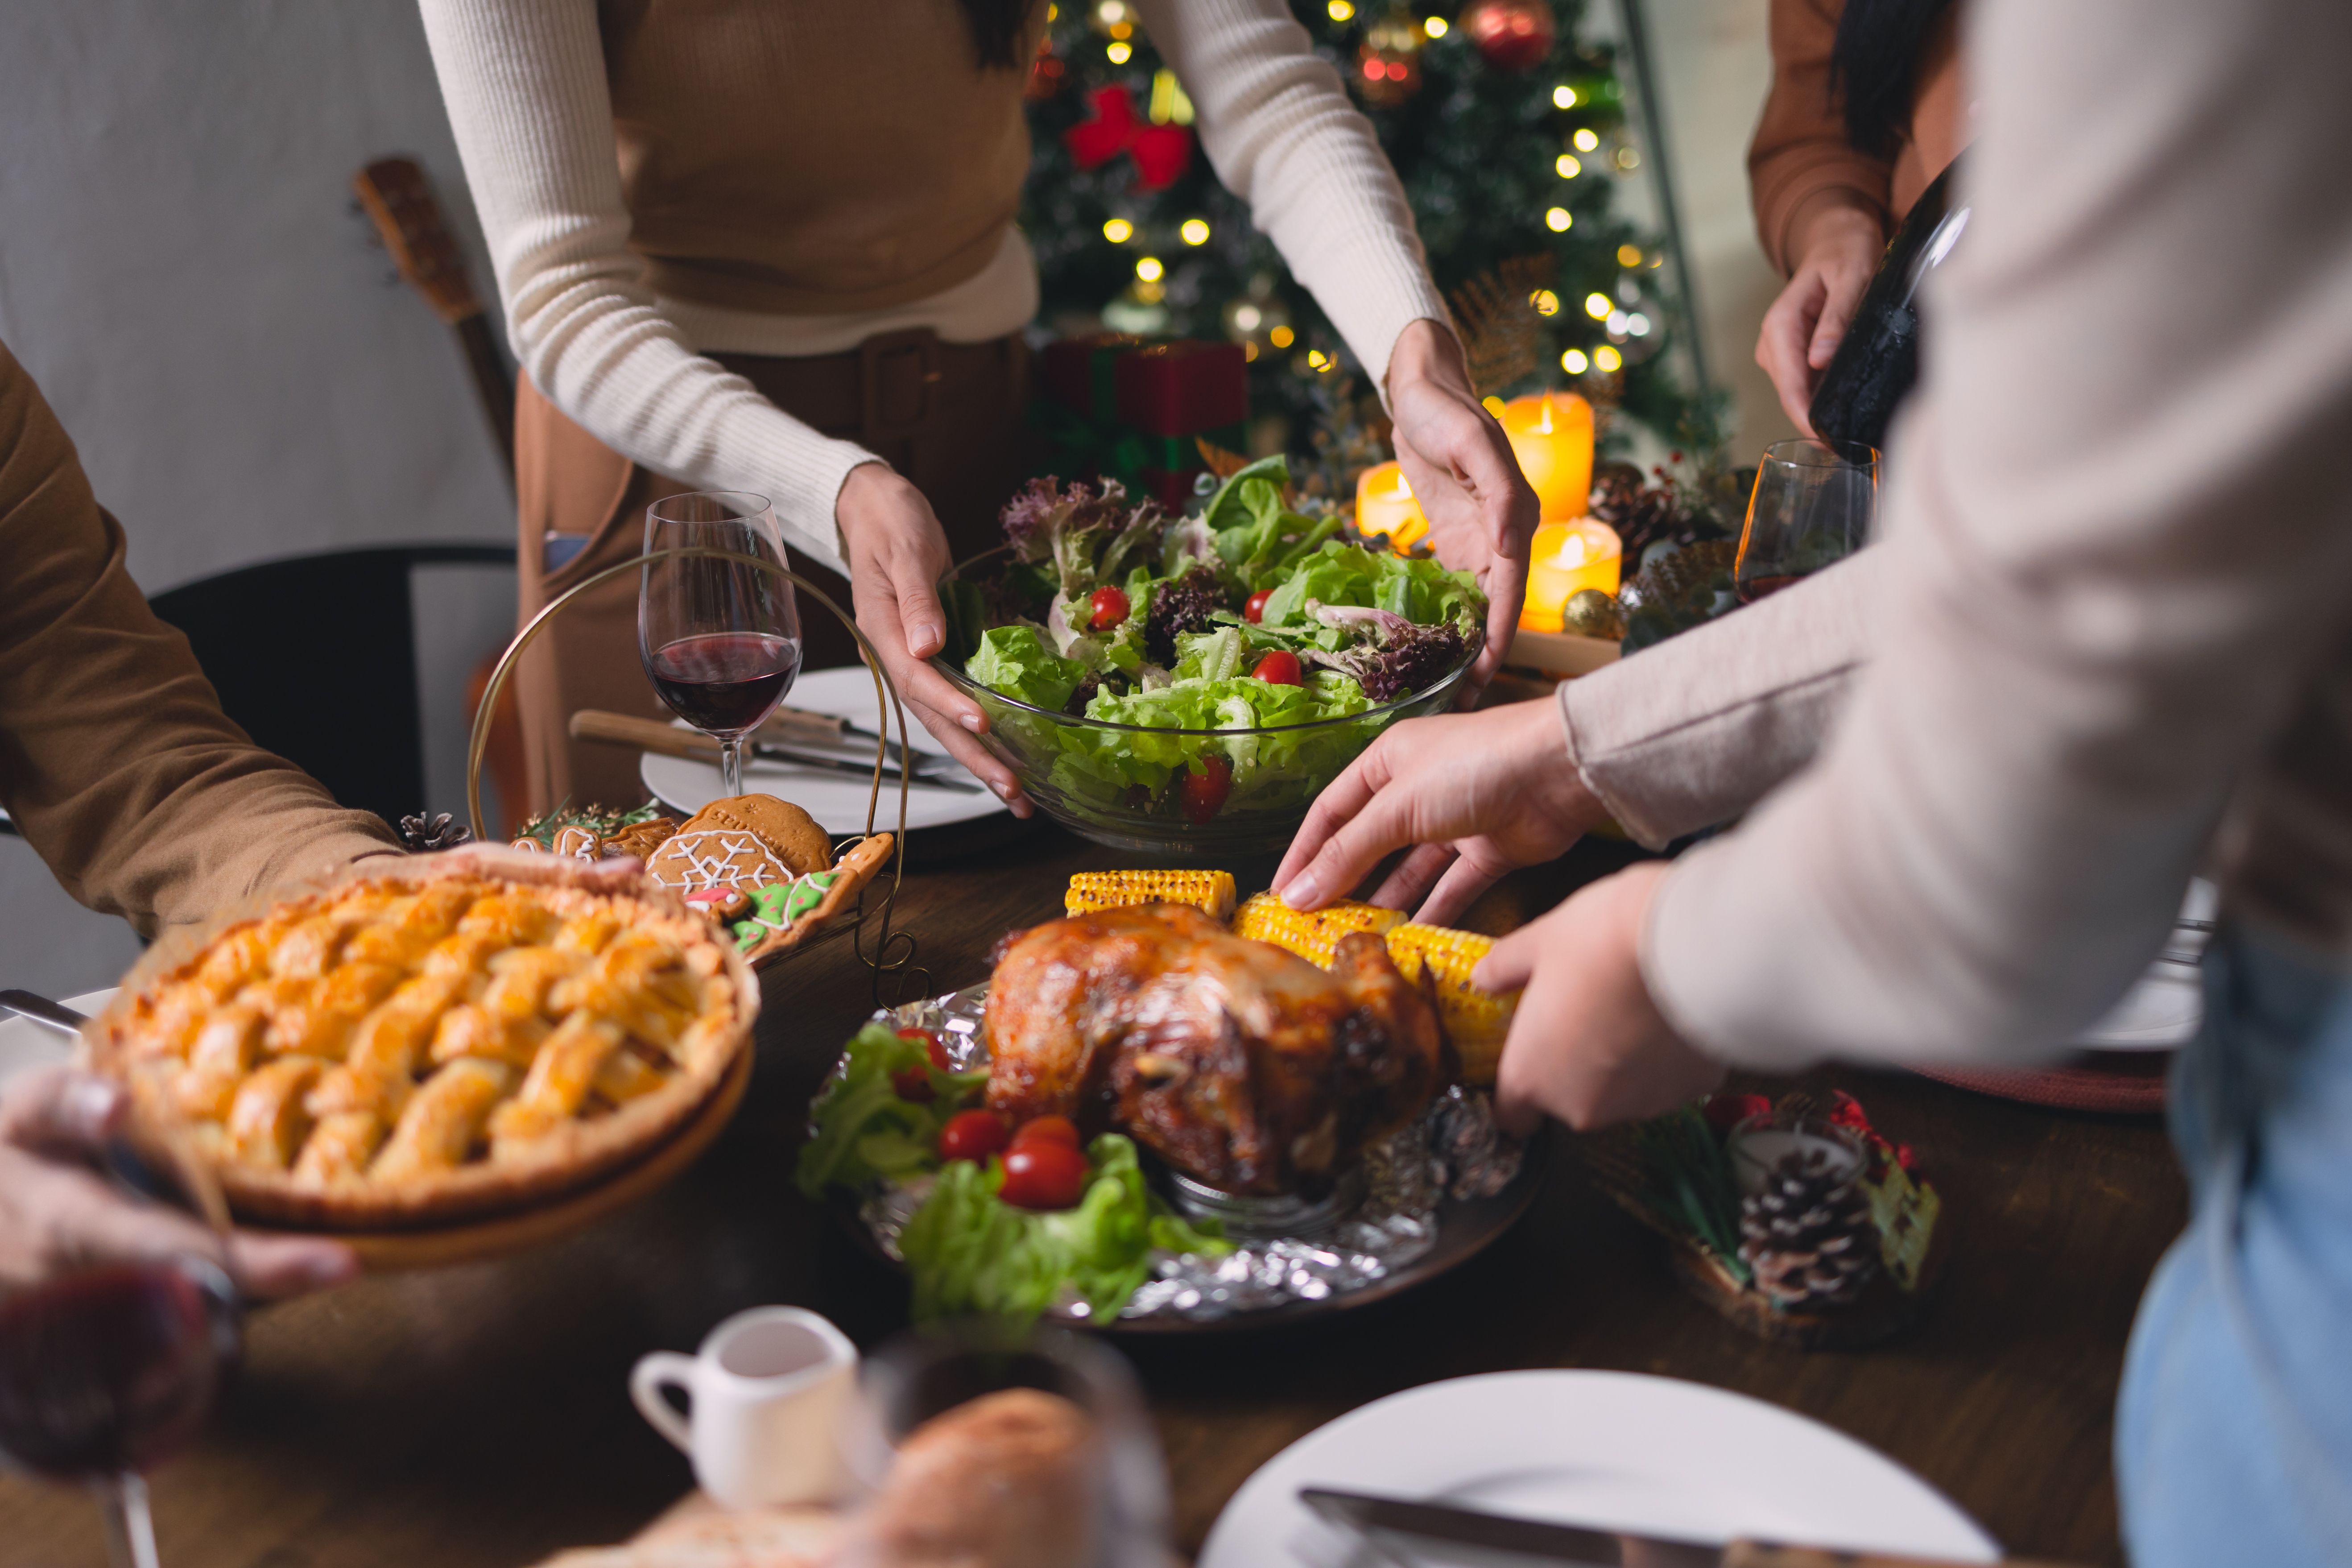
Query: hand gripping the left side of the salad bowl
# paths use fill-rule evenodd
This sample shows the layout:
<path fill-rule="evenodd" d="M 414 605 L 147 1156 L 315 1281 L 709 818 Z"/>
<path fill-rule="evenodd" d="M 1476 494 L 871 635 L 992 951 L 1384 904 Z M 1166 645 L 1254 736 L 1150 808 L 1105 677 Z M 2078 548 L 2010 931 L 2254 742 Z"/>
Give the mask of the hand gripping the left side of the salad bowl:
<path fill-rule="evenodd" d="M 1033 806 L 1021 780 L 974 738 L 988 731 L 988 715 L 924 663 L 948 646 L 948 611 L 938 604 L 938 578 L 950 564 L 948 536 L 931 503 L 889 465 L 861 463 L 849 470 L 833 515 L 849 550 L 849 599 L 858 630 L 875 644 L 898 698 L 1014 816 L 1028 816 Z"/>

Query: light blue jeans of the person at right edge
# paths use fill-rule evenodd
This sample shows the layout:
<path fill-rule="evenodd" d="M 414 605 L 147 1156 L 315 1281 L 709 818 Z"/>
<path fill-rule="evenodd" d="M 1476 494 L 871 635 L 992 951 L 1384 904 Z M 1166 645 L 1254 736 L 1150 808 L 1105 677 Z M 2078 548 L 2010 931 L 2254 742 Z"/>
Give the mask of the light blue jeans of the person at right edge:
<path fill-rule="evenodd" d="M 2136 1568 L 2352 1563 L 2352 976 L 2225 929 L 2171 1077 L 2190 1225 L 2114 1410 Z"/>

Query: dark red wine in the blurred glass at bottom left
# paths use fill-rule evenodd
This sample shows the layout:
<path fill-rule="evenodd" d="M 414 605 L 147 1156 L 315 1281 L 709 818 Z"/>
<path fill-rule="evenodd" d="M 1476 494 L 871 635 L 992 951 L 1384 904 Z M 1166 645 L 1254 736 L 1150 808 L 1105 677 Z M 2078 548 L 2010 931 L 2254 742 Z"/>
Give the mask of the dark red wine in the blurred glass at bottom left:
<path fill-rule="evenodd" d="M 115 1262 L 0 1300 L 0 1453 L 59 1481 L 134 1476 L 202 1432 L 238 1366 L 209 1262 Z"/>

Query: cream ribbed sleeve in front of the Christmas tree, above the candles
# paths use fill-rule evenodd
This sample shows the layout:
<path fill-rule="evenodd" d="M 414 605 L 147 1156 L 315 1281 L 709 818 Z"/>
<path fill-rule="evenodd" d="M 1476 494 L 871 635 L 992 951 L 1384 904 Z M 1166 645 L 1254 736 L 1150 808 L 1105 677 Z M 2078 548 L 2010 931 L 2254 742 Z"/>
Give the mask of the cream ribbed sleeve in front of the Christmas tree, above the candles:
<path fill-rule="evenodd" d="M 1397 336 L 1416 320 L 1451 327 L 1454 317 L 1371 122 L 1282 0 L 1138 7 L 1200 113 L 1216 176 L 1249 202 L 1385 397 Z"/>

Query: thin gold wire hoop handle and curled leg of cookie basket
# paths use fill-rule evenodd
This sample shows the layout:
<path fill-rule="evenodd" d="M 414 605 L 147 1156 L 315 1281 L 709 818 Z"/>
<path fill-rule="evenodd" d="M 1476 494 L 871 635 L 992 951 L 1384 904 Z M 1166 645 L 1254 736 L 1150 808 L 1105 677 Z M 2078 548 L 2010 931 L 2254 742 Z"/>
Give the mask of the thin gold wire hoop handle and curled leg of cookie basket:
<path fill-rule="evenodd" d="M 515 663 L 520 663 L 522 651 L 532 646 L 532 642 L 539 637 L 539 632 L 546 630 L 548 621 L 553 621 L 555 616 L 560 616 L 564 611 L 564 607 L 572 604 L 572 599 L 581 597 L 590 588 L 597 588 L 600 583 L 609 583 L 609 581 L 619 578 L 623 571 L 644 571 L 649 564 L 654 564 L 659 559 L 717 559 L 717 562 L 739 562 L 743 567 L 755 567 L 755 569 L 767 571 L 771 576 L 781 576 L 783 581 L 788 581 L 795 588 L 795 592 L 807 595 L 809 599 L 816 599 L 818 604 L 826 607 L 826 611 L 835 621 L 840 621 L 844 628 L 849 628 L 849 635 L 856 637 L 856 642 L 858 642 L 858 654 L 866 656 L 866 670 L 875 679 L 875 712 L 877 712 L 877 724 L 875 724 L 875 771 L 873 771 L 873 788 L 866 792 L 866 835 L 863 835 L 863 837 L 873 837 L 873 832 L 875 832 L 875 816 L 882 809 L 882 769 L 887 766 L 887 757 L 889 757 L 891 715 L 898 715 L 898 741 L 901 741 L 901 745 L 908 745 L 913 741 L 913 736 L 908 733 L 908 726 L 906 726 L 906 705 L 898 701 L 898 686 L 882 670 L 882 658 L 880 658 L 880 654 L 875 654 L 875 646 L 866 639 L 866 632 L 861 632 L 858 623 L 847 611 L 842 611 L 840 604 L 833 602 L 833 595 L 828 595 L 823 588 L 818 588 L 809 578 L 800 576 L 790 567 L 781 567 L 781 564 L 776 564 L 771 559 L 762 559 L 757 555 L 743 555 L 739 550 L 717 550 L 713 545 L 675 545 L 675 548 L 668 548 L 668 550 L 654 550 L 649 555 L 637 555 L 633 559 L 619 562 L 614 567 L 604 567 L 602 571 L 595 571 L 595 574 L 581 578 L 579 583 L 574 583 L 572 588 L 567 588 L 564 592 L 560 592 L 555 599 L 550 599 L 546 604 L 546 609 L 541 609 L 536 616 L 532 616 L 532 621 L 520 632 L 515 632 L 515 639 L 510 644 L 506 644 L 506 654 L 499 656 L 499 665 L 489 672 L 489 684 L 482 689 L 482 705 L 475 708 L 475 715 L 473 715 L 473 738 L 466 745 L 466 813 L 470 818 L 475 842 L 485 842 L 485 844 L 489 842 L 489 823 L 482 818 L 482 757 L 489 750 L 489 717 L 492 717 L 492 712 L 496 712 L 496 708 L 499 708 L 499 693 L 506 691 L 506 679 L 513 675 Z M 903 931 L 903 929 L 896 929 L 896 931 L 891 929 L 891 914 L 894 914 L 896 903 L 898 903 L 898 884 L 903 879 L 906 879 L 906 769 L 901 766 L 898 769 L 898 835 L 891 842 L 889 884 L 882 886 L 882 882 L 875 879 L 875 884 L 870 884 L 858 896 L 858 907 L 851 914 L 844 914 L 830 931 L 821 931 L 809 943 L 797 943 L 793 947 L 786 947 L 771 961 L 757 964 L 757 969 L 771 969 L 776 964 L 786 964 L 786 961 L 790 961 L 790 959 L 795 959 L 795 957 L 800 957 L 804 952 L 823 947 L 830 938 L 835 938 L 835 936 L 840 936 L 840 933 L 847 931 L 849 938 L 851 938 L 851 950 L 858 954 L 858 961 L 866 964 L 866 969 L 870 973 L 873 994 L 875 994 L 877 1004 L 884 1004 L 884 997 L 882 997 L 884 978 L 896 980 L 894 990 L 901 992 L 898 999 L 929 994 L 929 990 L 931 990 L 931 973 L 927 969 L 920 969 L 915 964 L 915 952 L 917 952 L 915 933 L 913 931 Z M 882 889 L 880 900 L 875 900 L 875 889 L 877 886 Z M 866 929 L 868 926 L 875 929 L 873 952 L 868 952 L 868 947 L 866 947 Z"/>

